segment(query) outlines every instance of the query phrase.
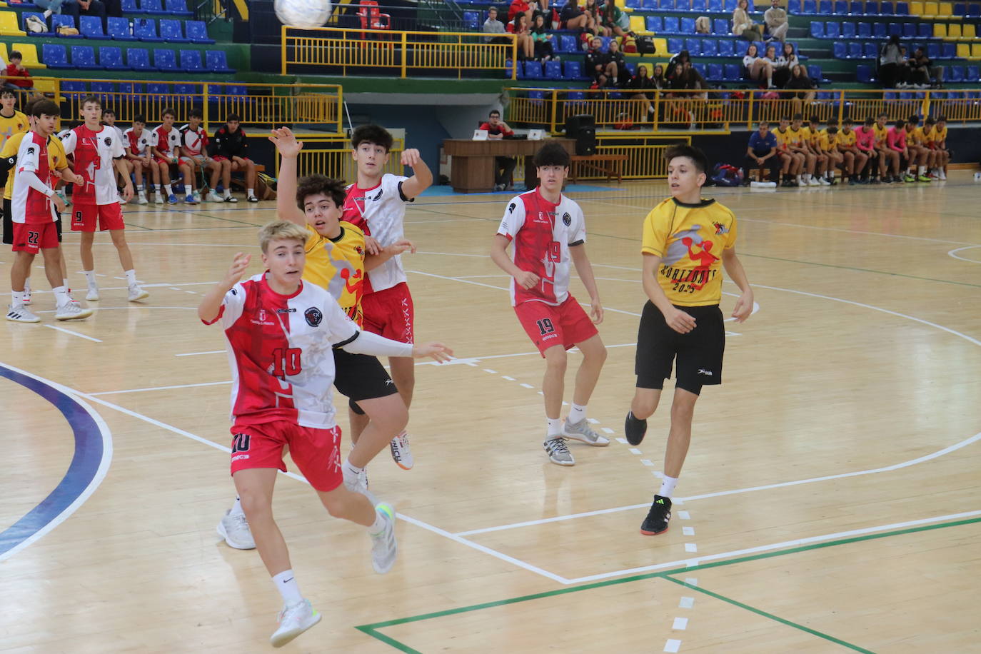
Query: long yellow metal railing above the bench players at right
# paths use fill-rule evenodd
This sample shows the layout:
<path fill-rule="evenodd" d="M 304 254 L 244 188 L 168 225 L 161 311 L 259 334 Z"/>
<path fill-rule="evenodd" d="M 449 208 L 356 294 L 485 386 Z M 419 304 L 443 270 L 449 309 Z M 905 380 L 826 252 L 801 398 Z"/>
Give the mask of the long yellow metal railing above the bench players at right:
<path fill-rule="evenodd" d="M 626 91 L 511 87 L 507 122 L 559 133 L 569 116 L 591 114 L 597 129 L 652 133 L 686 129 L 728 131 L 758 121 L 779 122 L 802 113 L 821 122 L 856 123 L 885 112 L 890 121 L 910 116 L 946 116 L 949 122 L 981 121 L 981 90 L 915 91 L 845 89 L 816 91 L 813 98 L 764 99 L 754 90 Z"/>

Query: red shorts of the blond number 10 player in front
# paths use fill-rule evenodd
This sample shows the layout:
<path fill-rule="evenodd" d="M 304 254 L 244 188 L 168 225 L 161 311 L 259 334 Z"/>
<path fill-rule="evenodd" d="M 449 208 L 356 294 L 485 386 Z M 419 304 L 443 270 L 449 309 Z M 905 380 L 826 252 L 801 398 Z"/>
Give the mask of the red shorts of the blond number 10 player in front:
<path fill-rule="evenodd" d="M 300 427 L 278 420 L 262 425 L 232 426 L 232 475 L 240 470 L 276 468 L 286 472 L 283 448 L 310 485 L 324 492 L 343 480 L 340 472 L 340 428 Z"/>

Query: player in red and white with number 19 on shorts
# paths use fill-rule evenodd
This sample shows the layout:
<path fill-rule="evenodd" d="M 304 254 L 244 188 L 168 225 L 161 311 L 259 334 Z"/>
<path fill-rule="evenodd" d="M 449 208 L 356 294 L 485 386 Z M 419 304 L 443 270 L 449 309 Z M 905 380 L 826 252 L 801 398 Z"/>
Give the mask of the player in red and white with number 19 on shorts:
<path fill-rule="evenodd" d="M 566 438 L 594 446 L 609 444 L 586 420 L 586 405 L 606 360 L 606 348 L 595 327 L 603 320 L 603 307 L 593 266 L 586 256 L 583 210 L 562 195 L 569 164 L 569 153 L 561 145 L 542 146 L 535 155 L 539 187 L 508 203 L 490 246 L 490 258 L 512 277 L 511 305 L 518 321 L 545 360 L 542 394 L 547 431 L 543 445 L 549 460 L 560 466 L 576 463 L 565 444 Z M 514 246 L 510 256 L 508 244 Z M 570 262 L 590 294 L 592 321 L 569 293 Z M 572 409 L 563 423 L 559 414 L 565 384 L 565 351 L 573 346 L 583 353 L 583 363 L 576 375 Z"/>

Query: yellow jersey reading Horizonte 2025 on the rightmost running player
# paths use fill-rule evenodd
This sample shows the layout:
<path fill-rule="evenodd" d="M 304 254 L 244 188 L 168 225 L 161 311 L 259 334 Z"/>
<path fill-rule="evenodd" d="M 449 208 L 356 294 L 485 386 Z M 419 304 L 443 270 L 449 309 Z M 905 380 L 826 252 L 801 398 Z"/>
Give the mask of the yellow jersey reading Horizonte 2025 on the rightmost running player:
<path fill-rule="evenodd" d="M 644 221 L 641 252 L 661 258 L 657 281 L 671 304 L 703 307 L 722 299 L 722 251 L 736 245 L 736 215 L 715 200 L 668 198 Z"/>

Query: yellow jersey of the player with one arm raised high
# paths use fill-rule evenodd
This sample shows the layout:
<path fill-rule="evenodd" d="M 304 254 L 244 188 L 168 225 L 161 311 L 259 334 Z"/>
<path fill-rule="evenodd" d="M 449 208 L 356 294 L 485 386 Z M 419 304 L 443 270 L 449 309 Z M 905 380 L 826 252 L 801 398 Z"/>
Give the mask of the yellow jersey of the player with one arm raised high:
<path fill-rule="evenodd" d="M 365 232 L 345 221 L 328 238 L 307 225 L 303 278 L 327 289 L 347 317 L 362 327 L 361 296 L 365 279 Z"/>

